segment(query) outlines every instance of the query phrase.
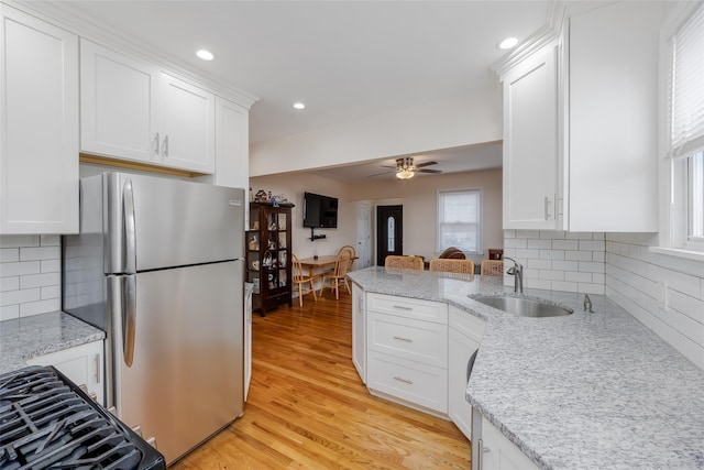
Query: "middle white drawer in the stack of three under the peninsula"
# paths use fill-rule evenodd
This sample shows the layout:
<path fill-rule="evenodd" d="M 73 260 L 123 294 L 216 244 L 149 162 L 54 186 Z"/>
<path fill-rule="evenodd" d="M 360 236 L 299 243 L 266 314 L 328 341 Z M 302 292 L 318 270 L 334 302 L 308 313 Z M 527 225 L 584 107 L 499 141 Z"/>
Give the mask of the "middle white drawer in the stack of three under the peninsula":
<path fill-rule="evenodd" d="M 367 316 L 370 350 L 448 367 L 448 326 L 430 321 L 370 313 Z"/>

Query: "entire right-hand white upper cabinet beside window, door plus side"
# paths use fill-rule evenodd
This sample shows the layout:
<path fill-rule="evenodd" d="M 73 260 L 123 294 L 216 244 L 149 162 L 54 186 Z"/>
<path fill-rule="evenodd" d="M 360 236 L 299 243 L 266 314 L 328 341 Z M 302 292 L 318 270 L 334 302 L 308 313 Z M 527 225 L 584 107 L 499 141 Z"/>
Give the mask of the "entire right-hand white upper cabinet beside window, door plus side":
<path fill-rule="evenodd" d="M 504 229 L 658 230 L 661 15 L 658 2 L 575 3 L 563 37 L 513 58 Z"/>

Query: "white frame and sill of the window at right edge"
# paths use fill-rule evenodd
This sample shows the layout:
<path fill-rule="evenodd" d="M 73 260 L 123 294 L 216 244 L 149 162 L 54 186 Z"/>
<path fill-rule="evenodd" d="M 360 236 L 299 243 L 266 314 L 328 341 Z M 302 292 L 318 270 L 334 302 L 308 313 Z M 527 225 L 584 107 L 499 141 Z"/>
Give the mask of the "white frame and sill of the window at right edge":
<path fill-rule="evenodd" d="M 673 36 L 680 28 L 692 17 L 698 8 L 704 8 L 703 2 L 692 2 L 683 4 L 682 8 L 672 12 L 663 28 L 663 44 L 661 47 L 661 98 L 660 102 L 662 112 L 661 129 L 662 140 L 661 154 L 664 155 L 661 166 L 661 186 L 662 194 L 662 226 L 660 230 L 660 247 L 651 247 L 651 251 L 670 254 L 678 258 L 688 258 L 704 261 L 704 237 L 692 232 L 693 221 L 697 215 L 693 212 L 693 198 L 696 190 L 701 187 L 694 184 L 693 161 L 704 147 L 701 145 L 701 139 L 694 139 L 692 142 L 682 144 L 672 143 L 672 116 L 670 102 L 670 86 L 673 63 Z M 704 157 L 702 157 L 704 159 Z M 701 168 L 698 171 L 702 171 Z M 702 175 L 698 175 L 700 182 Z M 701 196 L 701 194 L 700 194 Z M 704 210 L 704 203 L 697 203 L 698 210 Z M 701 217 L 701 215 L 700 215 Z"/>

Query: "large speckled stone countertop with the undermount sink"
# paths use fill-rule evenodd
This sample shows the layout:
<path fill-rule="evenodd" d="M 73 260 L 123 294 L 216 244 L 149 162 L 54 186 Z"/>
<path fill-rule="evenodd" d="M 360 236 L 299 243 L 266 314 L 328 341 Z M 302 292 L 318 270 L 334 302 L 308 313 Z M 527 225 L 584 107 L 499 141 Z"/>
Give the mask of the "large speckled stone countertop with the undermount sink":
<path fill-rule="evenodd" d="M 704 371 L 605 296 L 526 289 L 572 315 L 516 317 L 469 298 L 501 278 L 349 274 L 366 292 L 447 302 L 488 320 L 468 398 L 542 469 L 704 469 Z"/>

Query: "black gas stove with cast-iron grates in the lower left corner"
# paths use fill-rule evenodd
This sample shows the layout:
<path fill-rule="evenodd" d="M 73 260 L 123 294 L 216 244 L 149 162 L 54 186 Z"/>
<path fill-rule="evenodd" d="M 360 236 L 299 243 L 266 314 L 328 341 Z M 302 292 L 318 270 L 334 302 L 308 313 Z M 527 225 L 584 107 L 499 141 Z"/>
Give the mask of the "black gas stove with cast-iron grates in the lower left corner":
<path fill-rule="evenodd" d="M 0 470 L 165 468 L 156 449 L 56 369 L 0 375 Z"/>

